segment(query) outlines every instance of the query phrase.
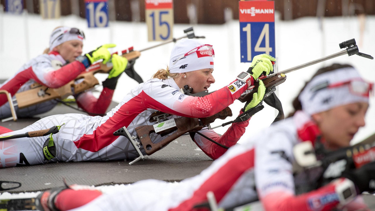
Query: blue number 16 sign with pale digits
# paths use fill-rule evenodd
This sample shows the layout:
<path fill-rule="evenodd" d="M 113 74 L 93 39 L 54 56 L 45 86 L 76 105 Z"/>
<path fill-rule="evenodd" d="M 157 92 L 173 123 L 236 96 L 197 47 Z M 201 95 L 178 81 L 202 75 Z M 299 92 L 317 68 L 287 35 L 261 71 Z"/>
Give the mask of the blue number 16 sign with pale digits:
<path fill-rule="evenodd" d="M 108 26 L 108 0 L 85 0 L 89 27 Z"/>

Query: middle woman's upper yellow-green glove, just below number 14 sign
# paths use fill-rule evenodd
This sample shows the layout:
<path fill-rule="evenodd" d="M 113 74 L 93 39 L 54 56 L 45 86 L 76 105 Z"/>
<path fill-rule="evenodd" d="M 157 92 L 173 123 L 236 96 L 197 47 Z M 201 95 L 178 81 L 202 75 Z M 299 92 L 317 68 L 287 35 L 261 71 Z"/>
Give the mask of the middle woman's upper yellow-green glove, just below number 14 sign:
<path fill-rule="evenodd" d="M 254 80 L 257 80 L 261 75 L 268 75 L 270 72 L 273 72 L 273 64 L 275 63 L 276 58 L 268 54 L 256 55 L 251 62 L 248 73 L 253 76 Z"/>

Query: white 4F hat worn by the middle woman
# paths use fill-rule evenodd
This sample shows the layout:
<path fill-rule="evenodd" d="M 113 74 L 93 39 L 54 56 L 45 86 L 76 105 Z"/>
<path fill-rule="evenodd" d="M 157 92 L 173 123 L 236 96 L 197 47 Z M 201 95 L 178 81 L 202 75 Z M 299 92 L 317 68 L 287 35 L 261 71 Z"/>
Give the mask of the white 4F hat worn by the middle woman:
<path fill-rule="evenodd" d="M 197 53 L 192 53 L 186 57 L 181 58 L 175 64 L 174 61 L 191 51 L 192 49 L 201 46 L 202 43 L 195 39 L 181 39 L 178 41 L 171 52 L 171 57 L 169 58 L 169 72 L 170 73 L 184 73 L 194 70 L 201 70 L 212 68 L 213 69 L 213 57 L 205 56 L 198 57 Z"/>

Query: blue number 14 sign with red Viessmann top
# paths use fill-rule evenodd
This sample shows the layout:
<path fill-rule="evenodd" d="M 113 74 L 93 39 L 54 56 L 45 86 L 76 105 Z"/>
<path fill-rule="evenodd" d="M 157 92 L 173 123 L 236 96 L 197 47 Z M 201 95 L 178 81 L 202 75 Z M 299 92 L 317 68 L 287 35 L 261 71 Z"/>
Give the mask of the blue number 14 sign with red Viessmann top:
<path fill-rule="evenodd" d="M 275 57 L 274 1 L 239 1 L 241 62 L 259 54 Z"/>

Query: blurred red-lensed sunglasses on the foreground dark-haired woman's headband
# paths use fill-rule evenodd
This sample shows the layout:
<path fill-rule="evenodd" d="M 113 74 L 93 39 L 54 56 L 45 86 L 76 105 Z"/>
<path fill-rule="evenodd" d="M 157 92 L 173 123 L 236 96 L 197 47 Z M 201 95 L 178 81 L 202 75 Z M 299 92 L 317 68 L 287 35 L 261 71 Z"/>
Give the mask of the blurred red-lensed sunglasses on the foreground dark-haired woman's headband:
<path fill-rule="evenodd" d="M 323 84 L 317 85 L 317 87 L 315 88 L 312 88 L 311 91 L 319 91 L 324 88 L 335 88 L 335 87 L 341 87 L 344 85 L 349 86 L 350 93 L 363 96 L 363 97 L 369 97 L 370 92 L 372 93 L 372 90 L 374 87 L 374 83 L 363 81 L 360 78 L 354 78 L 350 81 L 338 82 L 334 84 L 328 84 L 328 82 L 325 82 Z"/>

